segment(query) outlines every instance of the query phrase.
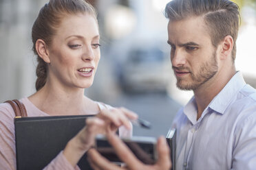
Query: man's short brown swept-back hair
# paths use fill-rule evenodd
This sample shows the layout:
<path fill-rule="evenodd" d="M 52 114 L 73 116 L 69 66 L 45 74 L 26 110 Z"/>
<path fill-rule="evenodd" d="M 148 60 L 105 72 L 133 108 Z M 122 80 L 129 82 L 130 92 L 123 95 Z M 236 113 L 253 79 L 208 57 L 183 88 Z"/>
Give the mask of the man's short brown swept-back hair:
<path fill-rule="evenodd" d="M 209 27 L 214 47 L 230 35 L 234 40 L 232 58 L 235 61 L 237 32 L 239 28 L 239 7 L 228 0 L 173 0 L 167 3 L 165 16 L 170 21 L 179 21 L 191 16 L 203 16 Z"/>

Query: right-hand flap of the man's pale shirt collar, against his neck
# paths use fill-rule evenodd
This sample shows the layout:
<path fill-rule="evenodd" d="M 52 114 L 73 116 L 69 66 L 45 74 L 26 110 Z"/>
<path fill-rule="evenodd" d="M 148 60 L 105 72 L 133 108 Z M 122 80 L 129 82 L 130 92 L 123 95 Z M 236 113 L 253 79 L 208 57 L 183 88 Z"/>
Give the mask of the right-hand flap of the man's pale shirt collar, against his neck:
<path fill-rule="evenodd" d="M 224 88 L 217 94 L 209 104 L 209 108 L 224 114 L 224 111 L 234 99 L 235 95 L 246 85 L 244 78 L 240 71 L 237 71 L 231 80 L 224 86 Z"/>

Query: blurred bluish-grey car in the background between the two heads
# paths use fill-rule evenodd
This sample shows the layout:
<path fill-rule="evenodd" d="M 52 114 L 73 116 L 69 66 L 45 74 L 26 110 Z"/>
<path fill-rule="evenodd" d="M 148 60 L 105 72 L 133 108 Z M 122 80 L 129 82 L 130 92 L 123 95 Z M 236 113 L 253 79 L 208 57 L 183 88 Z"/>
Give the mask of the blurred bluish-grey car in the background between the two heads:
<path fill-rule="evenodd" d="M 121 71 L 121 86 L 125 92 L 167 92 L 171 79 L 169 53 L 158 47 L 136 48 Z"/>

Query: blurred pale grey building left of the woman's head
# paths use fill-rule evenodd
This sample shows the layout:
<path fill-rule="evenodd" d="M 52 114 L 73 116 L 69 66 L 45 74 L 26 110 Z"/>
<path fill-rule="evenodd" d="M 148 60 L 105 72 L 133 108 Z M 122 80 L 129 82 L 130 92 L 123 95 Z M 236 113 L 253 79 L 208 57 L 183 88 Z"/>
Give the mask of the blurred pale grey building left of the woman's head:
<path fill-rule="evenodd" d="M 0 1 L 0 101 L 34 92 L 31 29 L 43 0 Z"/>

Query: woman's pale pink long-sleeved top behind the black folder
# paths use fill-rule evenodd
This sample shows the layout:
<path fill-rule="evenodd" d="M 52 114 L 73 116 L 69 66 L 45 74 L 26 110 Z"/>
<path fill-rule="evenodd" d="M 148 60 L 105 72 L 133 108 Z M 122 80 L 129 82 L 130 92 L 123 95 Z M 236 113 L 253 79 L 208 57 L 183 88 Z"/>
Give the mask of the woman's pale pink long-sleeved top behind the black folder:
<path fill-rule="evenodd" d="M 28 112 L 28 117 L 45 117 L 49 114 L 36 108 L 34 104 L 27 98 L 21 99 Z M 110 109 L 111 106 L 98 102 L 100 110 L 103 108 Z M 15 150 L 15 134 L 14 134 L 14 111 L 10 104 L 0 104 L 0 169 L 16 169 L 16 150 Z M 132 131 L 126 130 L 125 127 L 119 128 L 120 136 L 131 136 Z M 72 167 L 61 151 L 56 158 L 50 162 L 47 170 L 52 169 L 79 169 L 78 166 Z"/>

